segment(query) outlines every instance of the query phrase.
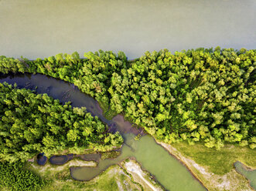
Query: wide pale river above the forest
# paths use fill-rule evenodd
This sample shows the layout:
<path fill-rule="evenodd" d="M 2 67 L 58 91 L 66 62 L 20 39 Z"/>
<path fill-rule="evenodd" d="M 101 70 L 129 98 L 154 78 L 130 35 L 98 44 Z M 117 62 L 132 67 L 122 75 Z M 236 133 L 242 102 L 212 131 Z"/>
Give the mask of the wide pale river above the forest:
<path fill-rule="evenodd" d="M 255 0 L 0 0 L 0 55 L 255 49 Z"/>

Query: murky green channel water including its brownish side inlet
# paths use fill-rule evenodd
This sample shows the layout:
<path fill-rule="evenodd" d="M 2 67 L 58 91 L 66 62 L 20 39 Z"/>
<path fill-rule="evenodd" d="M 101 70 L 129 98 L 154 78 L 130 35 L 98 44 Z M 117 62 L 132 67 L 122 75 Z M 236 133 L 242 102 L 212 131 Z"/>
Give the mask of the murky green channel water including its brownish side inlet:
<path fill-rule="evenodd" d="M 120 163 L 128 157 L 135 157 L 147 170 L 168 190 L 200 191 L 206 190 L 193 178 L 188 170 L 177 159 L 169 155 L 166 149 L 159 146 L 151 136 L 142 136 L 135 141 L 134 135 L 125 134 L 125 144 L 121 156 L 116 159 L 105 159 L 94 167 L 72 167 L 71 176 L 74 179 L 89 180 L 100 174 L 108 166 Z"/>

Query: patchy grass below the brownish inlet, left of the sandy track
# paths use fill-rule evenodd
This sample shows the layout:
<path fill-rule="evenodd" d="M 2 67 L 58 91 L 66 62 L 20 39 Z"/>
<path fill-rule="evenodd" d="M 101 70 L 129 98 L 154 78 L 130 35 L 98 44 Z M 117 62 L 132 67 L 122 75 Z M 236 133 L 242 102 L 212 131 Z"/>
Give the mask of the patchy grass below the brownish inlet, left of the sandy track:
<path fill-rule="evenodd" d="M 68 166 L 61 168 L 61 166 L 51 165 L 49 162 L 46 163 L 46 166 L 27 163 L 26 169 L 30 169 L 43 179 L 46 179 L 46 186 L 43 187 L 42 191 L 141 190 L 137 184 L 131 182 L 130 176 L 126 175 L 118 165 L 109 167 L 100 176 L 87 182 L 73 180 Z"/>

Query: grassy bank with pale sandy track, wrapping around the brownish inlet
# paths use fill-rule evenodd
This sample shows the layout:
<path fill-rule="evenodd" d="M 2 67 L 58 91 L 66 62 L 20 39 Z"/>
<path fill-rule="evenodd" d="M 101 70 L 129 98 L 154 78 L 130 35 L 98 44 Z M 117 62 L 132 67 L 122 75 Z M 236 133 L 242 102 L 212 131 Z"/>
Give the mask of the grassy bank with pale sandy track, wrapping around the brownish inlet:
<path fill-rule="evenodd" d="M 39 174 L 46 179 L 42 190 L 164 190 L 152 179 L 149 173 L 143 171 L 134 160 L 126 159 L 119 165 L 108 167 L 99 176 L 90 181 L 74 180 L 69 173 L 70 166 L 97 166 L 94 161 L 72 159 L 68 163 L 56 166 L 47 161 L 45 166 L 28 162 L 26 169 Z M 149 188 L 149 189 L 148 189 Z"/>

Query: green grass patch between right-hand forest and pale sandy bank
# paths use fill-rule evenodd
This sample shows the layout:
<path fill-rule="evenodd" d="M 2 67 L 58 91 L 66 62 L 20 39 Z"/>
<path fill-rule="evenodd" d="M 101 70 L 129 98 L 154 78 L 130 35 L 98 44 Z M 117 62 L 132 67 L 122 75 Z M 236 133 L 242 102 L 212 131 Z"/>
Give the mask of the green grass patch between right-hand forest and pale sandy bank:
<path fill-rule="evenodd" d="M 237 160 L 252 168 L 256 167 L 256 149 L 227 145 L 216 150 L 207 148 L 202 143 L 189 146 L 186 142 L 173 143 L 172 146 L 201 166 L 207 166 L 211 173 L 217 175 L 229 173 L 234 169 L 234 163 Z"/>

